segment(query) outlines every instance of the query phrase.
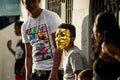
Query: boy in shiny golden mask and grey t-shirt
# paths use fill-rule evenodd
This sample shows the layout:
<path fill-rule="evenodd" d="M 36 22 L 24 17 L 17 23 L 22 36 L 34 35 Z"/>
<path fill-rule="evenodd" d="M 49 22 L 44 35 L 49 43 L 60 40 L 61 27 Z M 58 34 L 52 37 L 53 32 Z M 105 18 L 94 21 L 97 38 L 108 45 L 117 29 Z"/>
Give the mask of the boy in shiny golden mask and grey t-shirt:
<path fill-rule="evenodd" d="M 85 69 L 85 62 L 80 49 L 74 45 L 75 27 L 71 24 L 61 24 L 56 32 L 57 49 L 63 50 L 64 80 L 77 80 L 78 74 Z"/>

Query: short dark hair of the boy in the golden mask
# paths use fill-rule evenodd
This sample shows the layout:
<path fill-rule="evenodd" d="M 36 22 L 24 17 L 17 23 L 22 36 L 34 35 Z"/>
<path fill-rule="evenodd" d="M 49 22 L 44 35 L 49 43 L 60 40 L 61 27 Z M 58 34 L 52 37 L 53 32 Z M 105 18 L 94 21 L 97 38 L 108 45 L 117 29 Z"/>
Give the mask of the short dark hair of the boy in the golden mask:
<path fill-rule="evenodd" d="M 58 26 L 58 28 L 64 28 L 64 29 L 69 29 L 70 31 L 70 36 L 71 37 L 76 37 L 76 29 L 75 29 L 75 26 L 72 25 L 72 24 L 65 24 L 65 23 L 62 23 Z"/>

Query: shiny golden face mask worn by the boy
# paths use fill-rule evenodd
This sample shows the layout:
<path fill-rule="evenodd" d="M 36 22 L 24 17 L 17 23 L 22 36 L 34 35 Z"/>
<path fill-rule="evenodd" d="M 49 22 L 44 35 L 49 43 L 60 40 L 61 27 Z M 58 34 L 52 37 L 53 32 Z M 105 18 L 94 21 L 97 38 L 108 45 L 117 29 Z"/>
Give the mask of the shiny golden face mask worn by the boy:
<path fill-rule="evenodd" d="M 64 49 L 70 43 L 70 31 L 68 29 L 58 28 L 55 41 L 57 49 Z"/>

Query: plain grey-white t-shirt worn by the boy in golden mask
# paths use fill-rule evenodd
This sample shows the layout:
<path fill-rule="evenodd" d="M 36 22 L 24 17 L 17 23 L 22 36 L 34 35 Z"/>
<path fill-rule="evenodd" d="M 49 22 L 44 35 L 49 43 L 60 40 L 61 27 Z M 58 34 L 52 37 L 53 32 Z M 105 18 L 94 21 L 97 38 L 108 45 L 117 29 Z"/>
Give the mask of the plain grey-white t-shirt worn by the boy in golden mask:
<path fill-rule="evenodd" d="M 76 80 L 75 71 L 85 69 L 86 63 L 77 46 L 73 46 L 68 52 L 63 51 L 64 80 Z"/>

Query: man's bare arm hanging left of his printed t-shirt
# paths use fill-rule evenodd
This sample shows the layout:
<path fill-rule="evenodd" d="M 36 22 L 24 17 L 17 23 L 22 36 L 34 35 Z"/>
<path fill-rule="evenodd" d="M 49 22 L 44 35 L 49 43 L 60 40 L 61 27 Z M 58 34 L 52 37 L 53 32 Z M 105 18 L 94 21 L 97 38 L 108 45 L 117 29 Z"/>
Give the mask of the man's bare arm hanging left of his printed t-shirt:
<path fill-rule="evenodd" d="M 30 80 L 32 73 L 32 47 L 30 43 L 25 43 L 26 57 L 25 57 L 25 69 L 26 69 L 26 80 Z"/>

